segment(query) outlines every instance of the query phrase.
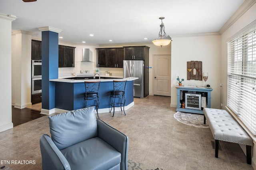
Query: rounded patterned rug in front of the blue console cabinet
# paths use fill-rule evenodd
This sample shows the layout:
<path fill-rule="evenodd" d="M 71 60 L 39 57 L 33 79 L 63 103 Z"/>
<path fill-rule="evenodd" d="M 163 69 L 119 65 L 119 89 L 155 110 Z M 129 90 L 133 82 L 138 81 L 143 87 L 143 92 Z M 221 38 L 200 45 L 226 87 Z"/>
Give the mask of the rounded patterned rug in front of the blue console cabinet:
<path fill-rule="evenodd" d="M 208 124 L 206 121 L 206 125 L 204 125 L 204 115 L 195 114 L 195 113 L 183 113 L 177 112 L 174 114 L 174 118 L 177 121 L 184 123 L 186 125 L 194 126 L 194 127 L 202 127 L 208 128 Z"/>

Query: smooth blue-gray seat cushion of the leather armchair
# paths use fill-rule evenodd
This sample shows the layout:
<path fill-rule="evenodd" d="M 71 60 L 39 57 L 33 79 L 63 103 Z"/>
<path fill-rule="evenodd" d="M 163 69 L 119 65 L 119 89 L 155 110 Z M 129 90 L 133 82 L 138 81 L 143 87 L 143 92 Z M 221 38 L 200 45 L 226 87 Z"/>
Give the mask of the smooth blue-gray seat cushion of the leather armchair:
<path fill-rule="evenodd" d="M 72 170 L 107 170 L 117 166 L 120 169 L 120 152 L 98 137 L 74 144 L 60 152 Z"/>

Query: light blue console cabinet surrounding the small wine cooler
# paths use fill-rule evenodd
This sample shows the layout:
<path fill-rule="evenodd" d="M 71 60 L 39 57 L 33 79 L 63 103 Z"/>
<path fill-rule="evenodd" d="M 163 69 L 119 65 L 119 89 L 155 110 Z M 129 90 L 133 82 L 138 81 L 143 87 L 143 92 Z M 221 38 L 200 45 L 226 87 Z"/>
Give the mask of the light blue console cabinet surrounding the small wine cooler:
<path fill-rule="evenodd" d="M 181 98 L 180 94 L 182 92 L 182 94 L 185 93 L 206 93 L 207 96 L 207 107 L 211 108 L 211 91 L 213 90 L 212 88 L 204 88 L 204 87 L 190 87 L 190 86 L 176 86 L 177 89 L 177 109 L 176 111 L 180 111 L 180 112 L 186 112 L 186 113 L 198 113 L 198 114 L 204 114 L 203 110 L 196 110 L 196 109 L 186 109 L 186 108 L 182 108 L 180 106 L 180 103 L 185 101 L 185 99 L 183 99 L 183 97 Z"/>

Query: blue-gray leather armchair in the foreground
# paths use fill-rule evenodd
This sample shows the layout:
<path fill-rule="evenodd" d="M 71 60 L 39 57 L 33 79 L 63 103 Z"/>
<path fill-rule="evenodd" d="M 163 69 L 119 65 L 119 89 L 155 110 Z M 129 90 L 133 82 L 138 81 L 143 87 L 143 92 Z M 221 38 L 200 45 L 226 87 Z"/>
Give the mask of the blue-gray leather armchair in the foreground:
<path fill-rule="evenodd" d="M 49 117 L 40 138 L 43 170 L 127 170 L 128 137 L 100 119 L 94 107 Z"/>

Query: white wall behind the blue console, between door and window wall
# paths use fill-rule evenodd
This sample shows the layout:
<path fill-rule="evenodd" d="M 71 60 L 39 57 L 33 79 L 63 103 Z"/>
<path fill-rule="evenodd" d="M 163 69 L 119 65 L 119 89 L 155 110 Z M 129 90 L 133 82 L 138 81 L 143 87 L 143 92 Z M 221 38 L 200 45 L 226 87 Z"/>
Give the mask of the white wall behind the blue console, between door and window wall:
<path fill-rule="evenodd" d="M 202 72 L 208 72 L 209 84 L 213 91 L 211 93 L 212 108 L 220 107 L 220 35 L 204 35 L 190 37 L 172 38 L 172 88 L 171 106 L 176 107 L 176 88 L 178 85 L 177 73 L 184 83 L 204 86 L 204 81 L 187 80 L 187 61 L 202 61 Z"/>

